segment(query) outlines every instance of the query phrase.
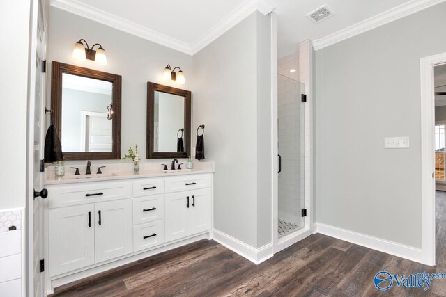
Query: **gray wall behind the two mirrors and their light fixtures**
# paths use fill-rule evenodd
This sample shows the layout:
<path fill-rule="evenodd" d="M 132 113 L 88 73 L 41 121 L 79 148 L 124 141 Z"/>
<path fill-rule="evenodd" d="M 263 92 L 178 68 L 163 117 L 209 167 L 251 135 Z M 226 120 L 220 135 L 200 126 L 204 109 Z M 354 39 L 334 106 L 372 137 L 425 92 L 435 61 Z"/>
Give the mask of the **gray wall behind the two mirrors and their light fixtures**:
<path fill-rule="evenodd" d="M 107 65 L 100 66 L 90 60 L 72 58 L 72 49 L 80 38 L 84 38 L 90 46 L 100 43 L 107 54 Z M 148 161 L 145 159 L 147 81 L 189 90 L 193 79 L 192 56 L 56 8 L 50 8 L 49 11 L 47 51 L 47 61 L 59 61 L 122 76 L 121 152 L 124 154 L 128 147 L 134 147 L 137 143 L 142 161 Z M 167 64 L 181 67 L 185 73 L 184 85 L 162 79 L 162 70 Z M 51 65 L 47 68 L 51 70 Z M 48 73 L 47 77 L 51 78 L 51 74 Z M 51 79 L 48 79 L 48 106 L 50 90 Z"/>

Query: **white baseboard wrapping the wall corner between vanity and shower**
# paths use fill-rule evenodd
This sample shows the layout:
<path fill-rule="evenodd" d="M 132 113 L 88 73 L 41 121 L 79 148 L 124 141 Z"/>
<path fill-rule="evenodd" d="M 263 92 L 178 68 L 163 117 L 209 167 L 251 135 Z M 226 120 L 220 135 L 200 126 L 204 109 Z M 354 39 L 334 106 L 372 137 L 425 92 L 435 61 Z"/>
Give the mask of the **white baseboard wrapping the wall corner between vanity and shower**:
<path fill-rule="evenodd" d="M 219 230 L 213 230 L 213 239 L 220 243 L 222 246 L 229 248 L 233 252 L 238 253 L 238 255 L 245 257 L 254 264 L 261 264 L 261 262 L 270 259 L 273 256 L 272 243 L 268 243 L 266 246 L 261 248 L 253 248 L 247 245 L 243 241 L 225 234 Z"/>

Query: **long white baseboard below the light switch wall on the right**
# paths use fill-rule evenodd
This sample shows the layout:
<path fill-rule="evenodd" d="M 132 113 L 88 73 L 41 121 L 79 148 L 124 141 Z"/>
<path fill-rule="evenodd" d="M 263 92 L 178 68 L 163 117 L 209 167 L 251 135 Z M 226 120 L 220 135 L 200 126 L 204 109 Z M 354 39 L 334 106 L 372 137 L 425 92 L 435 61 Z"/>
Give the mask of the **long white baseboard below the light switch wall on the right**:
<path fill-rule="evenodd" d="M 422 253 L 420 248 L 405 246 L 401 243 L 387 241 L 378 237 L 369 236 L 366 234 L 361 234 L 321 223 L 316 223 L 315 225 L 317 233 L 332 236 L 337 239 L 355 243 L 359 246 L 365 246 L 366 248 L 385 252 L 387 254 L 409 259 L 411 261 L 421 262 Z"/>

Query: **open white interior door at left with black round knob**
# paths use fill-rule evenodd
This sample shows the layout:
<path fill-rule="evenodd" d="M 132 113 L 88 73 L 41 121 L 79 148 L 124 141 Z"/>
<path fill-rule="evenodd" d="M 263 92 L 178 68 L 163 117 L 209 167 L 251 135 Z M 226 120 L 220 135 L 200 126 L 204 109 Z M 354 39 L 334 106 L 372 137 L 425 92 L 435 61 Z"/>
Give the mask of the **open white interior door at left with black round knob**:
<path fill-rule="evenodd" d="M 29 64 L 29 127 L 28 127 L 28 173 L 27 173 L 27 296 L 43 296 L 43 273 L 40 260 L 43 259 L 43 200 L 34 199 L 34 189 L 43 188 L 43 172 L 40 160 L 43 159 L 43 131 L 45 129 L 45 12 L 44 3 L 31 1 L 31 51 Z"/>

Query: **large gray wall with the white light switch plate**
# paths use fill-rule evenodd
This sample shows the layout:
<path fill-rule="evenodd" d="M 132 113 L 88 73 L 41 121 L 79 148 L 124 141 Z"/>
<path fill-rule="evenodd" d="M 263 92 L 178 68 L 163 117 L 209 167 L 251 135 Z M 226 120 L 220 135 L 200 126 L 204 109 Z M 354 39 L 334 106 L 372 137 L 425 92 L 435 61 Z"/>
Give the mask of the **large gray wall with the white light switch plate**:
<path fill-rule="evenodd" d="M 420 58 L 446 3 L 316 51 L 318 223 L 421 247 Z M 410 149 L 384 150 L 409 136 Z"/>

